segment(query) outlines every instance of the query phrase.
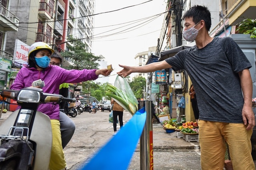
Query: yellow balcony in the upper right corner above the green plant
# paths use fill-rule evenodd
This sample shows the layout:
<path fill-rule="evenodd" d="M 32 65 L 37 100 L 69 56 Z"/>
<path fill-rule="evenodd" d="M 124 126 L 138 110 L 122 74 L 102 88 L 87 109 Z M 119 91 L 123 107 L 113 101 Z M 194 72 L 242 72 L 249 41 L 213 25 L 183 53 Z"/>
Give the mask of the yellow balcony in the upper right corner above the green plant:
<path fill-rule="evenodd" d="M 256 0 L 227 0 L 225 18 L 229 25 L 236 25 L 246 18 L 256 18 Z"/>

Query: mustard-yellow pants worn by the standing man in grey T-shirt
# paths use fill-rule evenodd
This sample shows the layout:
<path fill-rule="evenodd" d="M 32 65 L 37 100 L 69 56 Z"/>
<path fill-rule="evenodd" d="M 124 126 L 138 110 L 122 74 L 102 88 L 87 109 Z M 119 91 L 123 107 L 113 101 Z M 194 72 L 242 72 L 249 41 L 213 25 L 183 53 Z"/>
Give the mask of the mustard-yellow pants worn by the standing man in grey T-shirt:
<path fill-rule="evenodd" d="M 243 123 L 198 120 L 202 170 L 223 170 L 226 146 L 234 170 L 255 170 L 252 159 L 252 130 Z"/>

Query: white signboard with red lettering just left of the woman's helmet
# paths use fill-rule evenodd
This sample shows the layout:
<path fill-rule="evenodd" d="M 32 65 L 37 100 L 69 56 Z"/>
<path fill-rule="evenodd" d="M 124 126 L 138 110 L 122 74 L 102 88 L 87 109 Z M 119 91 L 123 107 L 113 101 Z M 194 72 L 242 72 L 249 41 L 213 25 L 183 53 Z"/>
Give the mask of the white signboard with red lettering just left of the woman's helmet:
<path fill-rule="evenodd" d="M 23 43 L 19 39 L 16 39 L 13 54 L 13 62 L 16 66 L 22 67 L 23 64 L 27 64 L 29 47 L 30 46 L 26 43 Z"/>

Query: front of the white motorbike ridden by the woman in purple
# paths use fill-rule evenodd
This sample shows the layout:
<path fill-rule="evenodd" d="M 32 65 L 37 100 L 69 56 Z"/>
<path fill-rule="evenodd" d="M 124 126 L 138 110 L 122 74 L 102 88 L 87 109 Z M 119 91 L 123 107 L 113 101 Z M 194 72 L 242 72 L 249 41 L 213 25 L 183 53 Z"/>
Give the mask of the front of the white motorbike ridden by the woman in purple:
<path fill-rule="evenodd" d="M 52 128 L 50 118 L 37 108 L 44 103 L 74 102 L 76 99 L 44 93 L 40 88 L 5 89 L 1 96 L 16 100 L 21 108 L 0 126 L 0 169 L 48 170 Z"/>

